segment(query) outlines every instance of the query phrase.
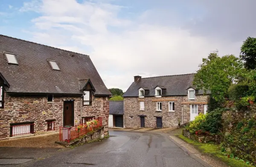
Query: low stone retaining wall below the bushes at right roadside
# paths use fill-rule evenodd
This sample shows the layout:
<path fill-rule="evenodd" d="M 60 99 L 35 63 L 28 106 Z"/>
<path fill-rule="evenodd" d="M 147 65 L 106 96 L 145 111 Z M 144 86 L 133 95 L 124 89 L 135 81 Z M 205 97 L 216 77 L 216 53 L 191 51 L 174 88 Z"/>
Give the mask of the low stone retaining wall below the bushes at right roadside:
<path fill-rule="evenodd" d="M 191 134 L 188 130 L 183 129 L 182 130 L 183 136 L 193 140 L 193 141 L 198 141 L 200 143 L 216 143 L 220 144 L 221 143 L 221 137 L 219 135 L 195 135 Z"/>

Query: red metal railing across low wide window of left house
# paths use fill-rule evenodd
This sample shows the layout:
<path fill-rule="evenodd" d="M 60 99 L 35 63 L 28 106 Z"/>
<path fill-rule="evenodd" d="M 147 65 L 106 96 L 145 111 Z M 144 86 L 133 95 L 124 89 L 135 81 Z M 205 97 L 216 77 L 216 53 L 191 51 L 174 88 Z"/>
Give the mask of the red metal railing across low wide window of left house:
<path fill-rule="evenodd" d="M 19 135 L 27 135 L 32 134 L 34 132 L 34 125 L 35 124 L 23 124 L 23 125 L 13 125 L 10 126 L 11 134 L 10 136 L 19 136 Z"/>

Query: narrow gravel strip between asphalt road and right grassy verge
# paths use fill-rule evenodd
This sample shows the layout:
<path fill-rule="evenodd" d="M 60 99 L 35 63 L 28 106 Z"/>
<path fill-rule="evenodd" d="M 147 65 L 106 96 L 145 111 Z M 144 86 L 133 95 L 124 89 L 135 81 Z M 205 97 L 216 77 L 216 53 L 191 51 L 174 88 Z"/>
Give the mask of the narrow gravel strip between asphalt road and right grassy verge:
<path fill-rule="evenodd" d="M 171 135 L 169 137 L 172 138 L 173 140 L 175 140 L 177 143 L 179 143 L 183 147 L 185 147 L 187 150 L 189 150 L 192 154 L 196 155 L 198 158 L 201 158 L 202 160 L 207 162 L 212 167 L 229 167 L 226 164 L 224 164 L 224 162 L 222 162 L 222 161 L 219 161 L 219 160 L 217 160 L 211 156 L 208 156 L 208 155 L 203 155 L 197 149 L 195 149 L 195 147 L 193 147 L 191 144 L 186 143 L 185 141 L 181 140 L 180 138 L 177 138 L 174 135 Z"/>

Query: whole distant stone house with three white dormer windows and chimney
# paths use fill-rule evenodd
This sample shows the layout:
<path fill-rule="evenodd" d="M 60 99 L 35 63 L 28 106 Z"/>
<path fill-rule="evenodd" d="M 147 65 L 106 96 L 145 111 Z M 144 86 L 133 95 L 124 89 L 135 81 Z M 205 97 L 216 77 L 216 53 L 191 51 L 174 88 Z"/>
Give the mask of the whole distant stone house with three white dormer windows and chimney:
<path fill-rule="evenodd" d="M 192 86 L 193 78 L 194 74 L 134 76 L 123 95 L 125 128 L 175 127 L 206 113 L 208 95 Z"/>

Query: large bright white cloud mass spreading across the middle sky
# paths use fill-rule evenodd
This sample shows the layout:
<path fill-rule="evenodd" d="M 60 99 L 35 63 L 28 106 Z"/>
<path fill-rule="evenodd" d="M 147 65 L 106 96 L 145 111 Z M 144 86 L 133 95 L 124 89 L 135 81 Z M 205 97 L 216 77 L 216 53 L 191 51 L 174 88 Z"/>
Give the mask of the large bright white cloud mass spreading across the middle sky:
<path fill-rule="evenodd" d="M 239 53 L 241 43 L 191 36 L 188 29 L 180 29 L 177 17 L 169 17 L 173 25 L 154 24 L 155 10 L 128 20 L 119 17 L 123 9 L 102 1 L 33 0 L 20 11 L 41 14 L 32 20 L 32 40 L 90 55 L 106 86 L 123 91 L 137 74 L 195 72 L 201 59 L 216 48 L 220 55 Z M 160 17 L 168 16 L 157 14 L 154 20 Z"/>

